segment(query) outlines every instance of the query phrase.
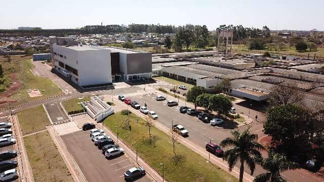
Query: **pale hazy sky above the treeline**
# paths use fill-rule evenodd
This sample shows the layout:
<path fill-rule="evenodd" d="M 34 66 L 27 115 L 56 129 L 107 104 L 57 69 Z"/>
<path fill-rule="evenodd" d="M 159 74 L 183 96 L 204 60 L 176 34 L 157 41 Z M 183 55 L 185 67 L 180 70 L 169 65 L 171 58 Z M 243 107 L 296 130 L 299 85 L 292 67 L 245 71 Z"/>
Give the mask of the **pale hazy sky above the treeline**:
<path fill-rule="evenodd" d="M 242 24 L 272 30 L 324 30 L 324 0 L 1 0 L 0 29 L 107 24 Z"/>

